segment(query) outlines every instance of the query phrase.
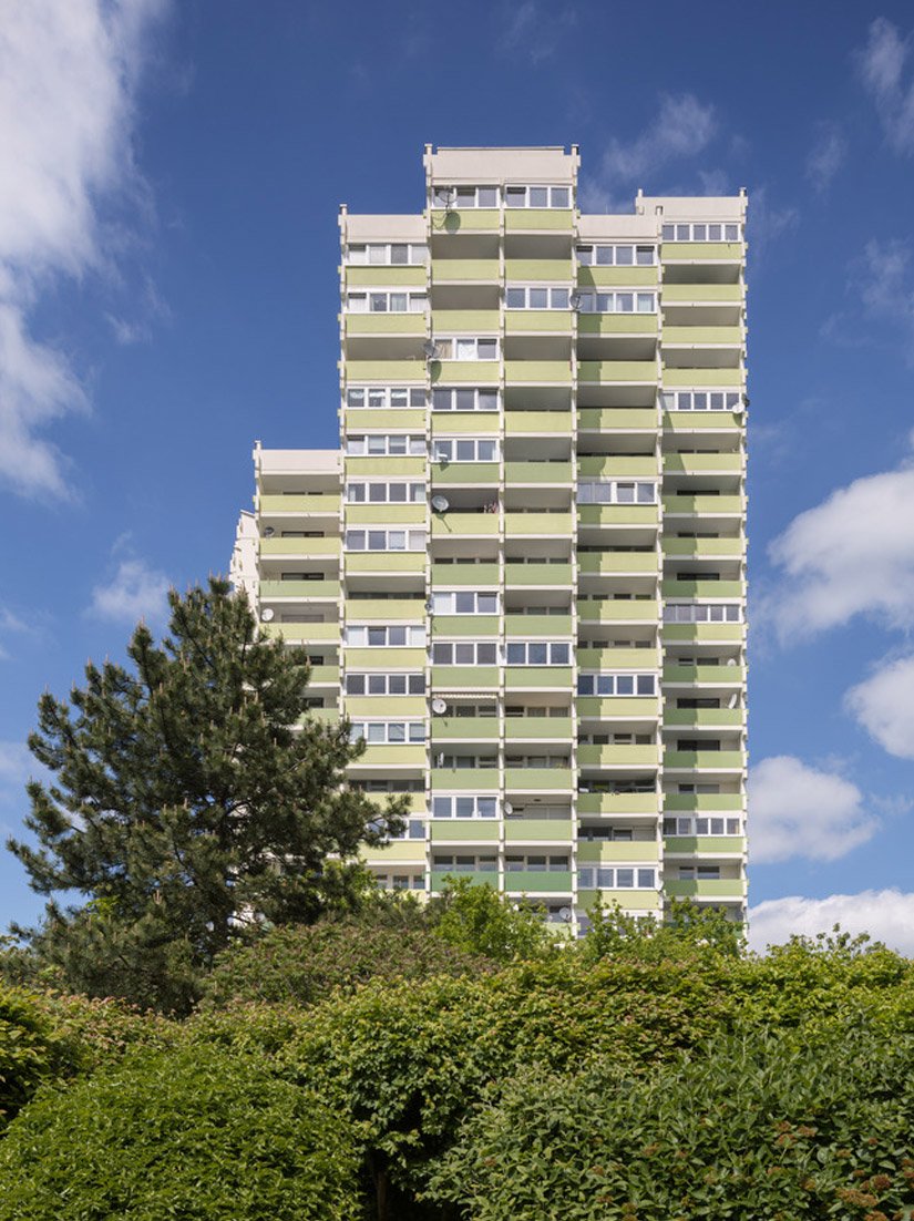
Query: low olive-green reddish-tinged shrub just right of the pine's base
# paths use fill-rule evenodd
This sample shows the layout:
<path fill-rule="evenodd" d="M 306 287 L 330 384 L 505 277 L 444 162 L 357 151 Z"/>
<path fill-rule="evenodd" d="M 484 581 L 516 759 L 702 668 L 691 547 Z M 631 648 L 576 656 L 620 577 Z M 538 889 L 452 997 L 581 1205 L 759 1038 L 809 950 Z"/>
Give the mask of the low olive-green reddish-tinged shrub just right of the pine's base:
<path fill-rule="evenodd" d="M 237 1000 L 312 1005 L 337 989 L 351 993 L 369 979 L 421 980 L 492 971 L 486 958 L 432 937 L 421 910 L 419 918 L 409 908 L 403 919 L 395 912 L 387 921 L 378 915 L 372 907 L 367 916 L 290 924 L 229 946 L 204 982 L 204 1005 Z"/>

